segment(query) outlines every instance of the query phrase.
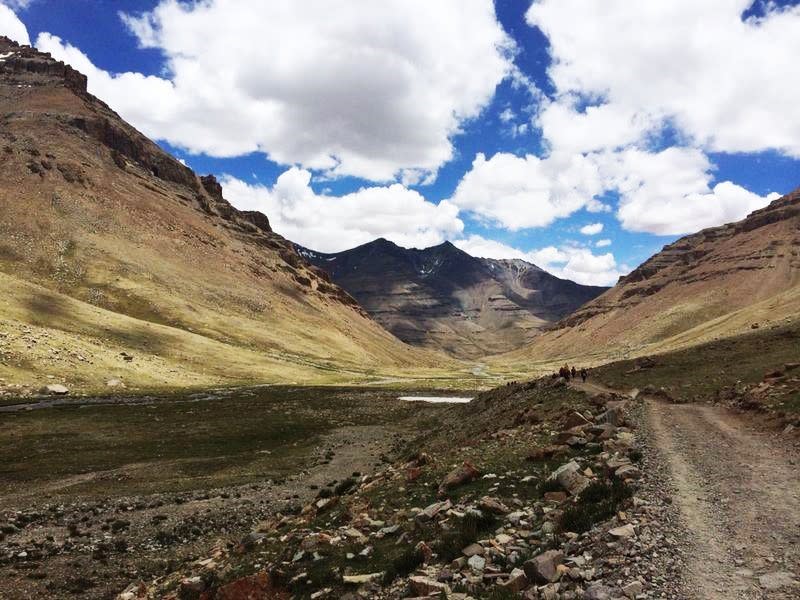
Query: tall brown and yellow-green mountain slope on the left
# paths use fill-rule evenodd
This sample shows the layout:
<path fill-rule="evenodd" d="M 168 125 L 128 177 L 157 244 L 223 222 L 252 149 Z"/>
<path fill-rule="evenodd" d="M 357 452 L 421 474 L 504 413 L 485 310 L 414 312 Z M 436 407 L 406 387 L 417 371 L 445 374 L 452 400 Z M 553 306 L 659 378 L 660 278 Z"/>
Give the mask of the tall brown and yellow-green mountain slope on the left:
<path fill-rule="evenodd" d="M 6 38 L 0 57 L 0 377 L 205 385 L 438 364 L 83 75 Z"/>

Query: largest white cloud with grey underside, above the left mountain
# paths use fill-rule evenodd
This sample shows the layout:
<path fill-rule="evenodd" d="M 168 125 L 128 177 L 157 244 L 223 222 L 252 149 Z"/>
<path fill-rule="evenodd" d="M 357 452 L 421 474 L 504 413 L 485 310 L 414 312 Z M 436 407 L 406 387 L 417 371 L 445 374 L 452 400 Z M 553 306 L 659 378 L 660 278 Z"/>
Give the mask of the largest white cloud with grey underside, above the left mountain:
<path fill-rule="evenodd" d="M 512 69 L 490 0 L 162 0 L 122 18 L 163 53 L 165 77 L 101 72 L 53 36 L 37 45 L 78 60 L 90 91 L 151 137 L 330 175 L 435 173 Z"/>

